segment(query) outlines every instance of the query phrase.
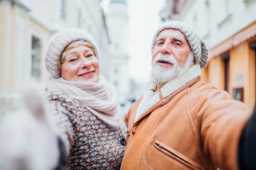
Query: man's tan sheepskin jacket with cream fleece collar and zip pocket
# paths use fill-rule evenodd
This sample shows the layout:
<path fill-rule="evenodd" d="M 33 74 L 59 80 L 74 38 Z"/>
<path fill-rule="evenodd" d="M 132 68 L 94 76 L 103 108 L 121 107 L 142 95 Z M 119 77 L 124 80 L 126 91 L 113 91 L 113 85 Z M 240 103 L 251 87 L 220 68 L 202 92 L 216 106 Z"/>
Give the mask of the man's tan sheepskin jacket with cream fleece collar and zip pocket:
<path fill-rule="evenodd" d="M 200 76 L 193 65 L 159 93 L 151 86 L 132 105 L 121 169 L 238 169 L 250 109 Z"/>

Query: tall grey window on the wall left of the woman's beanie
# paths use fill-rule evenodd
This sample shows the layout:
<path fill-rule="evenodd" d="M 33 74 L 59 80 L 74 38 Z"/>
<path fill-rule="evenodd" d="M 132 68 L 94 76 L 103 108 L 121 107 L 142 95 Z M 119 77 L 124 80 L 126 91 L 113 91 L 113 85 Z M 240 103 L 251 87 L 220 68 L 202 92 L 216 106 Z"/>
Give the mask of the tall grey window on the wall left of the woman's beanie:
<path fill-rule="evenodd" d="M 35 37 L 32 37 L 31 64 L 31 77 L 41 79 L 41 42 Z"/>

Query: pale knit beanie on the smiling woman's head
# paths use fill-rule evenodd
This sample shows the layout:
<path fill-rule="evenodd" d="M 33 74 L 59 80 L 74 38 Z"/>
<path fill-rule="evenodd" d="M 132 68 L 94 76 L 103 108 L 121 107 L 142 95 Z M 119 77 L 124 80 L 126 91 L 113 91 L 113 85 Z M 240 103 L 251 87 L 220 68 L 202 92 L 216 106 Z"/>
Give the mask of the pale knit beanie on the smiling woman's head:
<path fill-rule="evenodd" d="M 54 78 L 60 78 L 60 57 L 63 54 L 65 47 L 77 40 L 85 40 L 86 42 L 89 42 L 95 50 L 97 59 L 100 60 L 100 52 L 97 44 L 88 33 L 78 28 L 61 30 L 50 38 L 46 52 L 46 69 Z"/>

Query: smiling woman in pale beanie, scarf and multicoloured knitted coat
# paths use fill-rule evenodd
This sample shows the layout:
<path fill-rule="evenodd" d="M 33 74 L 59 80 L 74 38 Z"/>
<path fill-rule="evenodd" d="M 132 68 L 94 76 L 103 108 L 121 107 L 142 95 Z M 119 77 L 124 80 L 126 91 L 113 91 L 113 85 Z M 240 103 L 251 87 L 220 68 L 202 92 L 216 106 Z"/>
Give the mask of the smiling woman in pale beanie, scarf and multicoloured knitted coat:
<path fill-rule="evenodd" d="M 100 76 L 100 53 L 85 31 L 51 38 L 46 93 L 67 152 L 67 169 L 119 169 L 127 127 L 117 91 Z"/>

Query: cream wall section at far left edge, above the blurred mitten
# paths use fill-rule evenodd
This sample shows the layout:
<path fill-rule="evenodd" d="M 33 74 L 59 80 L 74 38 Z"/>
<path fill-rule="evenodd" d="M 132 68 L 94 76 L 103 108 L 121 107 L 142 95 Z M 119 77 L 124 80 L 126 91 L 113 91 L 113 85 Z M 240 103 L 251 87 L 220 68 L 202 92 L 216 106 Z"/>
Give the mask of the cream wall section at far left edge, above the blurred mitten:
<path fill-rule="evenodd" d="M 0 93 L 11 94 L 16 91 L 18 81 L 23 78 L 26 60 L 26 27 L 28 16 L 19 8 L 1 5 L 1 86 Z"/>

